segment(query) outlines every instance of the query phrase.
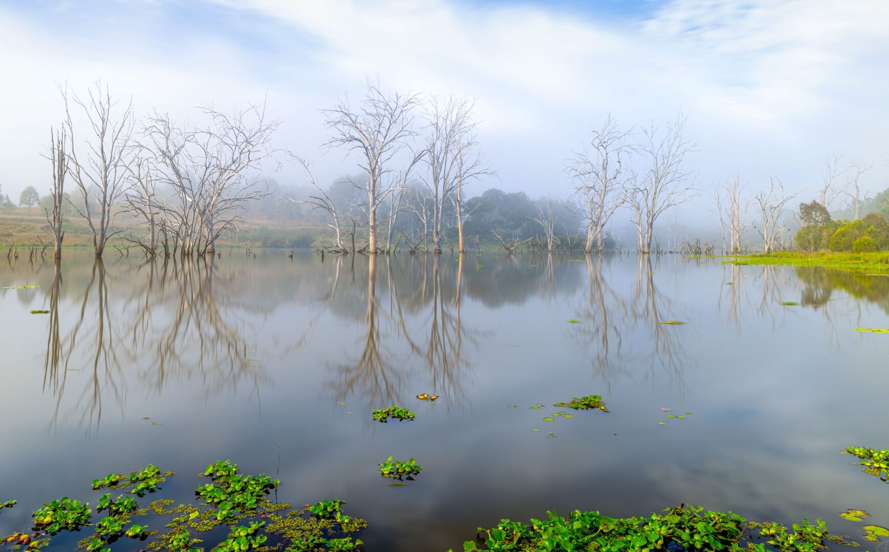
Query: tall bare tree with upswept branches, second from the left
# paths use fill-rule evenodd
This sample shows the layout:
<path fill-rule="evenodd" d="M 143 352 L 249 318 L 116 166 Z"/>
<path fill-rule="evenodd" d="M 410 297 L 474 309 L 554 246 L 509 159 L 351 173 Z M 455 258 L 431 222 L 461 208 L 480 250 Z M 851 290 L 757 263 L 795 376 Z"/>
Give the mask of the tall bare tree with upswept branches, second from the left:
<path fill-rule="evenodd" d="M 68 86 L 59 85 L 59 92 L 65 101 L 66 126 L 71 140 L 68 154 L 68 173 L 74 179 L 80 195 L 84 199 L 84 209 L 71 203 L 92 230 L 92 249 L 97 257 L 105 251 L 108 239 L 122 230 L 114 228 L 112 209 L 117 199 L 124 193 L 127 167 L 132 162 L 132 99 L 122 106 L 118 115 L 117 100 L 111 99 L 108 86 L 102 88 L 96 81 L 88 89 L 89 100 L 80 100 L 71 93 L 71 99 L 80 106 L 88 122 L 90 138 L 86 143 L 86 156 L 78 156 L 74 120 L 68 102 Z M 90 193 L 94 190 L 99 212 L 93 213 L 90 206 Z M 69 200 L 70 201 L 70 200 Z"/>

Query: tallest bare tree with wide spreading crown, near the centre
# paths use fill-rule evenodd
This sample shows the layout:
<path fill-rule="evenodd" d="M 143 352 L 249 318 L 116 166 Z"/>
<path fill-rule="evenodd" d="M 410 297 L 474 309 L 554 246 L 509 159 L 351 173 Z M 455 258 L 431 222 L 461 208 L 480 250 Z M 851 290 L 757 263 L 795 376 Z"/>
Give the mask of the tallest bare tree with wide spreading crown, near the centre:
<path fill-rule="evenodd" d="M 367 192 L 368 252 L 377 252 L 377 209 L 395 188 L 386 186 L 385 176 L 392 169 L 388 164 L 408 142 L 416 136 L 413 108 L 420 103 L 416 94 L 386 95 L 380 90 L 379 81 L 368 79 L 364 84 L 361 107 L 353 110 L 348 100 L 331 109 L 323 109 L 327 127 L 333 132 L 324 145 L 340 146 L 348 153 L 357 151 L 358 166 L 367 175 L 362 187 Z M 389 180 L 394 184 L 396 180 Z"/>

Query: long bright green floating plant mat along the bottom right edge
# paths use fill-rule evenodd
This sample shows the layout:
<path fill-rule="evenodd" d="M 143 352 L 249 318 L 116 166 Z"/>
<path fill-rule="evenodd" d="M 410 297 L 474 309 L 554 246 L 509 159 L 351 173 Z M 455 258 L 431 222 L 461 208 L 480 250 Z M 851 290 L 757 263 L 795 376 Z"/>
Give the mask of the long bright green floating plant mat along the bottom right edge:
<path fill-rule="evenodd" d="M 530 525 L 503 519 L 479 530 L 477 540 L 464 542 L 463 550 L 741 550 L 741 541 L 753 552 L 765 552 L 765 544 L 781 552 L 826 550 L 826 541 L 857 546 L 830 534 L 820 519 L 815 524 L 804 519 L 788 528 L 748 521 L 731 511 L 683 506 L 648 517 L 614 518 L 580 510 L 568 518 L 547 514 L 549 519 L 532 519 Z"/>

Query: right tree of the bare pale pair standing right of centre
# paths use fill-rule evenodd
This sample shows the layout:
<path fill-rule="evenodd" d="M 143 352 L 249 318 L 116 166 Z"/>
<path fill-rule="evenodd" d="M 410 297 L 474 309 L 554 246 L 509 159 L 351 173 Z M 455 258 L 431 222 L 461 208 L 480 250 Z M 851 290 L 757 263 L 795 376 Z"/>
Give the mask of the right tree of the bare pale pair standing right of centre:
<path fill-rule="evenodd" d="M 645 164 L 641 176 L 634 178 L 629 201 L 639 235 L 639 252 L 651 252 L 654 222 L 663 212 L 698 195 L 693 172 L 685 169 L 685 158 L 698 151 L 698 143 L 685 137 L 686 120 L 680 113 L 663 132 L 653 123 L 642 129 L 645 140 L 639 149 Z"/>

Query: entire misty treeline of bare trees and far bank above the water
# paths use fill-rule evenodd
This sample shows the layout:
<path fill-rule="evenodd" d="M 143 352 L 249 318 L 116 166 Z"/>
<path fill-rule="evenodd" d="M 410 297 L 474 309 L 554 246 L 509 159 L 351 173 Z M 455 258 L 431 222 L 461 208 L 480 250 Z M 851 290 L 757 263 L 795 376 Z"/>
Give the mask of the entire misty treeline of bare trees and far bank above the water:
<path fill-rule="evenodd" d="M 264 103 L 197 108 L 194 122 L 179 122 L 157 110 L 135 114 L 131 99 L 101 81 L 84 95 L 60 85 L 64 116 L 44 153 L 50 194 L 28 188 L 19 204 L 40 206 L 57 255 L 72 220 L 89 228 L 97 256 L 112 238 L 147 256 L 214 254 L 220 238 L 247 243 L 245 222 L 253 243 L 326 252 L 499 246 L 589 253 L 629 244 L 640 253 L 851 251 L 856 240 L 860 250 L 884 244 L 882 223 L 868 216 L 889 214 L 889 189 L 870 196 L 868 160 L 834 153 L 818 182 L 793 193 L 778 175 L 751 183 L 737 170 L 701 183 L 694 166 L 701 145 L 684 114 L 631 126 L 605 113 L 565 152 L 562 182 L 543 196 L 506 191 L 510 183 L 470 194 L 468 184 L 497 178 L 477 138 L 474 100 L 391 92 L 379 78 L 363 89 L 357 101 L 320 109 L 329 138 L 313 155 L 273 145 L 280 121 L 266 116 Z M 316 173 L 313 158 L 324 153 L 343 157 L 342 174 Z M 278 175 L 283 164 L 299 168 L 301 178 Z M 703 192 L 717 215 L 709 227 L 677 214 Z M 2 190 L 0 209 L 14 209 Z"/>

